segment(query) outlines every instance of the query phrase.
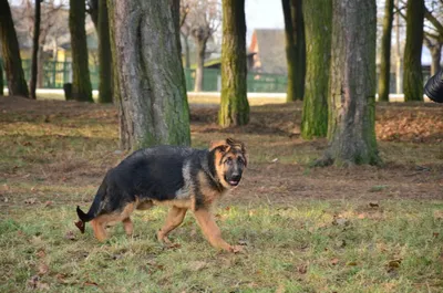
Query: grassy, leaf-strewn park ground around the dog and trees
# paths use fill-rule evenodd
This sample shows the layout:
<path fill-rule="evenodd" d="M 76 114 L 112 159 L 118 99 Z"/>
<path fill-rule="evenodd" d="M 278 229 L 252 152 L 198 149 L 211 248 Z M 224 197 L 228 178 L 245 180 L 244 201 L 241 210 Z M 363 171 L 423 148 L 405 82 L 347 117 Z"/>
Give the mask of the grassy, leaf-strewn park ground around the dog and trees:
<path fill-rule="evenodd" d="M 256 104 L 262 104 L 257 103 Z M 190 101 L 193 146 L 235 137 L 249 168 L 215 210 L 214 250 L 190 214 L 165 249 L 165 208 L 137 211 L 99 243 L 80 234 L 119 150 L 111 105 L 0 98 L 0 291 L 442 292 L 443 107 L 378 103 L 382 166 L 311 167 L 326 139 L 299 136 L 301 103 L 251 106 L 250 124 L 222 129 L 217 105 Z"/>

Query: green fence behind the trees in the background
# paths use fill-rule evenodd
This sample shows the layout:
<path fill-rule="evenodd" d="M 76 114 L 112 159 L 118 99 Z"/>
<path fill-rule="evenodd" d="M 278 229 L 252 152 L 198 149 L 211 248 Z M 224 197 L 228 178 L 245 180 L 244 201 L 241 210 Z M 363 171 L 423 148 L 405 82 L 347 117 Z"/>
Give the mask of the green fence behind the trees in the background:
<path fill-rule="evenodd" d="M 31 61 L 22 61 L 24 77 L 31 77 Z M 0 60 L 1 66 L 1 60 Z M 194 91 L 195 70 L 185 69 L 186 88 Z M 90 65 L 90 75 L 93 90 L 99 90 L 99 66 Z M 3 74 L 6 79 L 6 74 Z M 63 88 L 63 84 L 72 82 L 72 63 L 45 61 L 43 63 L 43 88 Z M 249 72 L 247 76 L 248 92 L 253 93 L 286 93 L 288 83 L 286 75 Z M 7 82 L 4 81 L 4 85 Z M 219 92 L 222 88 L 222 73 L 219 70 L 205 69 L 203 72 L 203 92 Z"/>

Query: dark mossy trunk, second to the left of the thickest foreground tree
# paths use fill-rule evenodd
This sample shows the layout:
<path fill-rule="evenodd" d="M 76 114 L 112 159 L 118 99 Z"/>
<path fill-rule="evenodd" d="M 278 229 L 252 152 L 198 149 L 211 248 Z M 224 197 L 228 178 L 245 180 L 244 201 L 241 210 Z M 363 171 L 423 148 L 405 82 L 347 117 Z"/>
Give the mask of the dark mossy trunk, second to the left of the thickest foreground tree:
<path fill-rule="evenodd" d="M 69 27 L 72 48 L 72 97 L 81 102 L 94 102 L 92 100 L 86 31 L 84 28 L 85 13 L 84 1 L 70 0 Z"/>

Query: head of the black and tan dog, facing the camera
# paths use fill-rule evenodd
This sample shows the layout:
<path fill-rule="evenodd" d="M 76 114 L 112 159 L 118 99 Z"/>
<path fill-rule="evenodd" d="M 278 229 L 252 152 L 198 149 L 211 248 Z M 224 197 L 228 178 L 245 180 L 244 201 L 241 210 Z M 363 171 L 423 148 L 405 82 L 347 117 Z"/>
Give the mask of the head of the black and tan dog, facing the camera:
<path fill-rule="evenodd" d="M 228 189 L 238 186 L 248 165 L 245 144 L 226 138 L 210 143 L 209 151 L 214 154 L 214 166 L 220 184 Z"/>

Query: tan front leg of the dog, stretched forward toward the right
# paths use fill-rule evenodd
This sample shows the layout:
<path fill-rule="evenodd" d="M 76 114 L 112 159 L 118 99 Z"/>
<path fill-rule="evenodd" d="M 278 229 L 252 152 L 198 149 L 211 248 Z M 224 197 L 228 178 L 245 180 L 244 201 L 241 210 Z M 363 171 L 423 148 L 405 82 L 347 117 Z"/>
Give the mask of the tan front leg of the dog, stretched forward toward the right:
<path fill-rule="evenodd" d="M 202 228 L 204 236 L 213 247 L 229 252 L 239 252 L 241 250 L 239 247 L 230 245 L 222 239 L 222 231 L 209 211 L 205 209 L 196 210 L 194 216 Z"/>

